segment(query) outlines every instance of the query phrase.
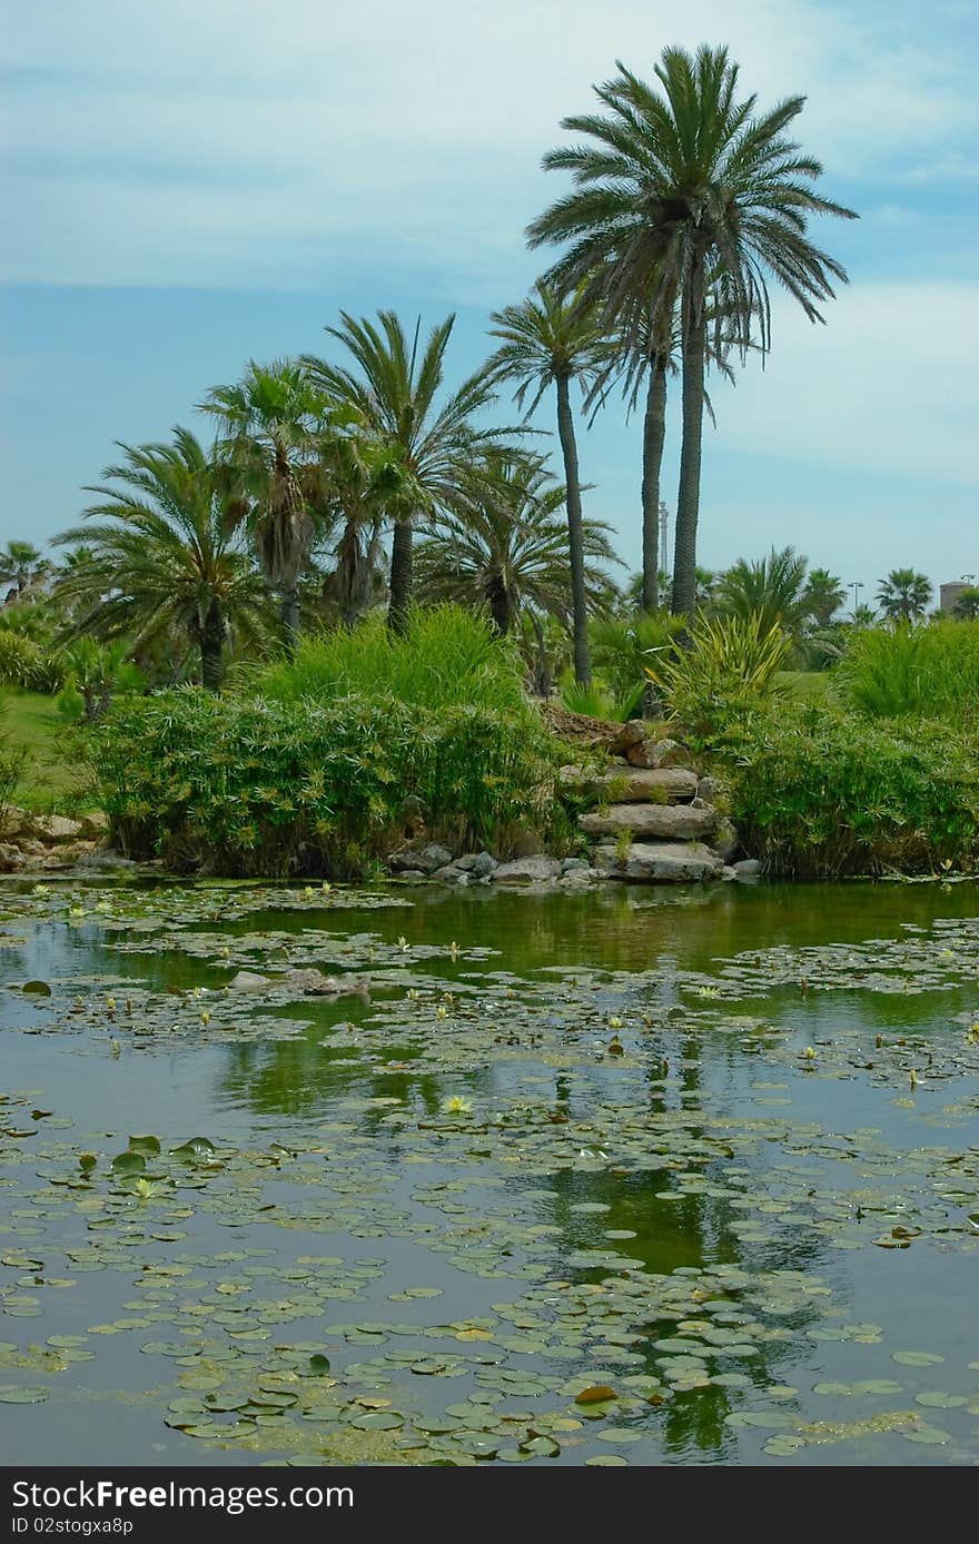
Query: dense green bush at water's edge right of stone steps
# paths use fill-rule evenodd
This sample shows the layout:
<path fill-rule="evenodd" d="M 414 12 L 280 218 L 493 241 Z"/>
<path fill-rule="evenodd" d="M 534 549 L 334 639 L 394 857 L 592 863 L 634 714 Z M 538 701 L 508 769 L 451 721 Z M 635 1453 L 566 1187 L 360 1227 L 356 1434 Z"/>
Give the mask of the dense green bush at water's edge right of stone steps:
<path fill-rule="evenodd" d="M 947 726 L 879 726 L 811 706 L 755 718 L 730 760 L 732 818 L 774 875 L 976 865 L 979 753 Z"/>

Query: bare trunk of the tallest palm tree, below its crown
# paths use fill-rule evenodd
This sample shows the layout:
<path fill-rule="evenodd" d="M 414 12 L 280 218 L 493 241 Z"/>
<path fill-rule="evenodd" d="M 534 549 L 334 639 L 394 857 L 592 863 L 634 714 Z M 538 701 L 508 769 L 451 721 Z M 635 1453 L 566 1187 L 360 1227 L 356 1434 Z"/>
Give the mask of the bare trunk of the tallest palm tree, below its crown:
<path fill-rule="evenodd" d="M 696 604 L 696 517 L 700 514 L 704 432 L 704 258 L 695 253 L 683 292 L 683 445 L 676 494 L 673 611 L 692 616 Z"/>

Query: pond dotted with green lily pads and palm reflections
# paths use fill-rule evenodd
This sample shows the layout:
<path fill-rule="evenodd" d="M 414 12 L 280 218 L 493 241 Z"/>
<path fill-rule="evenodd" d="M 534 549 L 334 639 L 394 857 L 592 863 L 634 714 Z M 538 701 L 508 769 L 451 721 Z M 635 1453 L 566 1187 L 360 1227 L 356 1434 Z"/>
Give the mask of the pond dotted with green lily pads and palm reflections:
<path fill-rule="evenodd" d="M 0 956 L 3 1462 L 979 1461 L 976 885 L 11 880 Z"/>

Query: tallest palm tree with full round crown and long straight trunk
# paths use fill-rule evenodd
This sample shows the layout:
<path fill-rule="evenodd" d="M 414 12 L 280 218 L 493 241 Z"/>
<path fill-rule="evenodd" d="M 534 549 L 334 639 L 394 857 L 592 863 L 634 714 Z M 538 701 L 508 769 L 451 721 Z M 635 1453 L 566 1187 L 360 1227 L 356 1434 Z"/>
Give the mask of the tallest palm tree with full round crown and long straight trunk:
<path fill-rule="evenodd" d="M 700 513 L 707 290 L 716 270 L 724 315 L 740 347 L 752 326 L 769 346 L 769 279 L 821 321 L 831 278 L 845 269 L 806 238 L 811 215 L 852 218 L 812 185 L 818 161 L 786 130 L 805 97 L 789 97 L 755 116 L 755 97 L 737 99 L 738 66 L 726 48 L 667 48 L 656 65 L 662 90 L 622 63 L 596 94 L 607 116 L 578 114 L 562 127 L 585 141 L 545 156 L 548 170 L 571 171 L 574 190 L 528 230 L 531 247 L 568 244 L 548 278 L 559 289 L 585 286 L 607 323 L 641 337 L 650 293 L 666 313 L 679 296 L 683 352 L 683 445 L 676 500 L 673 610 L 695 604 Z M 715 326 L 720 329 L 721 318 Z"/>

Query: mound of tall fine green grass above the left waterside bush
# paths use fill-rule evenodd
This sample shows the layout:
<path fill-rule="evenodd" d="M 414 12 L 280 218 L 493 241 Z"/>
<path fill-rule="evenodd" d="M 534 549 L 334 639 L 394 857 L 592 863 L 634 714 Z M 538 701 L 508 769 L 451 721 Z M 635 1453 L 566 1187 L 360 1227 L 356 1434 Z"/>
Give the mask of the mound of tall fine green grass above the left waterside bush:
<path fill-rule="evenodd" d="M 344 696 L 406 707 L 474 707 L 527 720 L 522 664 L 486 616 L 457 605 L 418 607 L 408 633 L 391 635 L 378 613 L 355 628 L 304 638 L 292 659 L 255 678 L 269 698 L 330 704 Z"/>

